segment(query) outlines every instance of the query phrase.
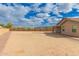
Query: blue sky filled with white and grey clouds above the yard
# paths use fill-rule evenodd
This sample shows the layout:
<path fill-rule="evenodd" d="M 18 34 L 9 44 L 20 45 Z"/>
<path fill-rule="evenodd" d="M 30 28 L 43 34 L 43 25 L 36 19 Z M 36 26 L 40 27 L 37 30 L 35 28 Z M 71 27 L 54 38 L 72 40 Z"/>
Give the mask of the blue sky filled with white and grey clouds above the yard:
<path fill-rule="evenodd" d="M 79 18 L 79 3 L 0 3 L 0 23 L 14 26 L 54 26 L 62 18 Z"/>

